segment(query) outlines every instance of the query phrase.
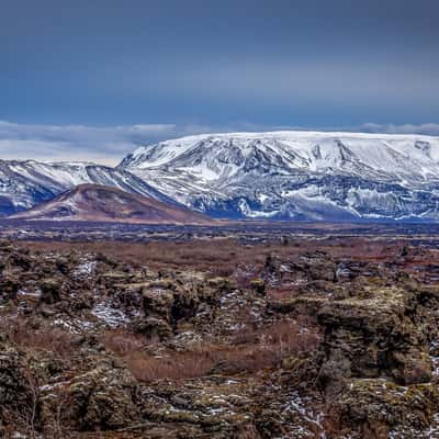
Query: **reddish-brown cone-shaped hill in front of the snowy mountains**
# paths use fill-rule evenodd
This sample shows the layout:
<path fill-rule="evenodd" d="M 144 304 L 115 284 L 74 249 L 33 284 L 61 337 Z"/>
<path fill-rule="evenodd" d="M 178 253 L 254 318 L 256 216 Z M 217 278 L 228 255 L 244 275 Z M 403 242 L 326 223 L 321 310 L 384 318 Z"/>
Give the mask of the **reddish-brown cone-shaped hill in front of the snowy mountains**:
<path fill-rule="evenodd" d="M 200 225 L 214 222 L 183 206 L 99 184 L 80 184 L 11 218 Z"/>

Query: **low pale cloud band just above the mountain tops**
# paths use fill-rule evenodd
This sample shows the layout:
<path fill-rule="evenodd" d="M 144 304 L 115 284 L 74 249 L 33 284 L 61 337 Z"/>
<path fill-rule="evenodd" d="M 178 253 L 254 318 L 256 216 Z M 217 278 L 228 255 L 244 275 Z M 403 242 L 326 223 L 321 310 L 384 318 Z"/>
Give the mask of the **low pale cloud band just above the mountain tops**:
<path fill-rule="evenodd" d="M 229 126 L 202 124 L 139 124 L 120 126 L 32 125 L 0 121 L 0 158 L 43 161 L 94 161 L 114 166 L 137 146 L 192 134 L 322 130 L 439 136 L 439 123 L 376 124 L 345 127 L 300 127 L 236 123 Z"/>

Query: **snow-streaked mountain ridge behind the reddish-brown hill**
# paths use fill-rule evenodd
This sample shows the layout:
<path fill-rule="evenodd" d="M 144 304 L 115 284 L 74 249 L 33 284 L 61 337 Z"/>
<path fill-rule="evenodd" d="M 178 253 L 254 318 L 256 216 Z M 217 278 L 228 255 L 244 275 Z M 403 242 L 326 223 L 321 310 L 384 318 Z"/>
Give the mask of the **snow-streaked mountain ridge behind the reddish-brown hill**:
<path fill-rule="evenodd" d="M 83 183 L 115 187 L 169 201 L 166 195 L 123 169 L 82 162 L 0 160 L 0 215 L 30 209 Z"/>

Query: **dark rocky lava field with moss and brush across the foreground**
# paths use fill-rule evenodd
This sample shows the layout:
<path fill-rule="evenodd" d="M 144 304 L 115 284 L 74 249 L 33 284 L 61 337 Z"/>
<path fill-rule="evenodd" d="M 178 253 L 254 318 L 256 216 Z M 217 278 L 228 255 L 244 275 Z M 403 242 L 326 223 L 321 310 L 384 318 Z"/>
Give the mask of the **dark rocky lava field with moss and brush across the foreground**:
<path fill-rule="evenodd" d="M 439 437 L 438 251 L 0 243 L 5 438 Z"/>

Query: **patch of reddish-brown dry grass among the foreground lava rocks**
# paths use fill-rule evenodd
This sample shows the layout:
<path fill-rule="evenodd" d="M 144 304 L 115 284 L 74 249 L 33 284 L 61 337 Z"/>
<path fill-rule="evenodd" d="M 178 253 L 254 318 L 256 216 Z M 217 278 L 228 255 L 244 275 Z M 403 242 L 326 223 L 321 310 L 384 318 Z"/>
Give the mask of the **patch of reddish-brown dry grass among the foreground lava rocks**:
<path fill-rule="evenodd" d="M 228 346 L 200 344 L 185 352 L 161 357 L 138 349 L 123 357 L 139 381 L 187 380 L 213 372 L 236 374 L 273 368 L 288 356 L 313 351 L 319 341 L 320 335 L 315 327 L 285 320 L 258 331 L 243 331 Z"/>

